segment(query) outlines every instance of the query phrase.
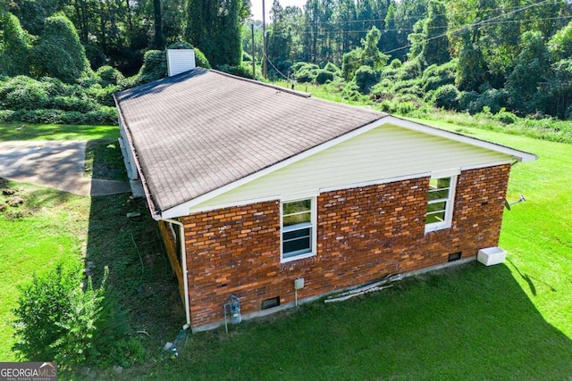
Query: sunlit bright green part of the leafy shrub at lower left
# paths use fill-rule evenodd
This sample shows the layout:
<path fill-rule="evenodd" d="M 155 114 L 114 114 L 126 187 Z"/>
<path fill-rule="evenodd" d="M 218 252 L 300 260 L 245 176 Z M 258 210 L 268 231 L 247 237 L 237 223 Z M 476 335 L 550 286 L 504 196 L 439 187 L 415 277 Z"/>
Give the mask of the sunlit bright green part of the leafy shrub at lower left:
<path fill-rule="evenodd" d="M 15 316 L 14 350 L 27 360 L 55 360 L 68 368 L 92 354 L 92 339 L 105 298 L 105 277 L 94 289 L 91 278 L 80 287 L 78 270 L 58 265 L 45 276 L 34 275 L 29 286 L 21 288 Z"/>

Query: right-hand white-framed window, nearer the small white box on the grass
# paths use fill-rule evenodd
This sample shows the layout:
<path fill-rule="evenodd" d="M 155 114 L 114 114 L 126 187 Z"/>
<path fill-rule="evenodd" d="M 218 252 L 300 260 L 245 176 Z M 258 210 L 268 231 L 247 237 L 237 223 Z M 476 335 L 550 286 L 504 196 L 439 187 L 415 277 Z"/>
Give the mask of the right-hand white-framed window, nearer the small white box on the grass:
<path fill-rule="evenodd" d="M 425 232 L 450 227 L 456 179 L 456 177 L 451 177 L 429 180 Z"/>

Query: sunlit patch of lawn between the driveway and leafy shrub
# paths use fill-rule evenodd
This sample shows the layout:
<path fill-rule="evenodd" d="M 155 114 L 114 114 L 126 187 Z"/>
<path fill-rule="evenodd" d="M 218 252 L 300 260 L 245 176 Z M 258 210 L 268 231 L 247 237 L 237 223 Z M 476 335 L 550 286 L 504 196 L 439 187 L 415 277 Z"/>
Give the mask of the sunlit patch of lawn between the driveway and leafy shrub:
<path fill-rule="evenodd" d="M 16 307 L 18 286 L 29 282 L 32 274 L 41 274 L 62 262 L 81 261 L 82 245 L 88 235 L 89 199 L 0 180 L 0 204 L 13 197 L 25 202 L 0 213 L 0 361 L 15 360 L 11 352 L 13 328 L 10 325 Z M 2 195 L 2 189 L 16 191 Z"/>

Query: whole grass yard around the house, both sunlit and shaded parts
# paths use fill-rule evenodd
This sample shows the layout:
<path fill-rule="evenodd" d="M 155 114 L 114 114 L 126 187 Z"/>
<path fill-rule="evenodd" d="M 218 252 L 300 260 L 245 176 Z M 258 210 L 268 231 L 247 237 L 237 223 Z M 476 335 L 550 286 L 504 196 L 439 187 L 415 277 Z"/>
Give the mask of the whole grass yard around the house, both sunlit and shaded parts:
<path fill-rule="evenodd" d="M 527 201 L 505 211 L 505 264 L 473 262 L 347 302 L 315 302 L 246 321 L 229 335 L 223 328 L 191 335 L 178 358 L 161 350 L 177 335 L 184 311 L 156 226 L 147 214 L 125 218 L 128 211 L 145 213 L 144 205 L 126 195 L 88 199 L 9 183 L 21 189 L 20 208 L 30 212 L 0 213 L 0 360 L 13 359 L 7 321 L 14 284 L 57 260 L 86 261 L 88 253 L 96 278 L 110 266 L 117 320 L 147 352 L 127 348 L 121 365 L 134 365 L 121 374 L 103 364 L 75 378 L 569 379 L 572 145 L 462 132 L 540 157 L 512 170 L 509 201 L 519 194 Z"/>

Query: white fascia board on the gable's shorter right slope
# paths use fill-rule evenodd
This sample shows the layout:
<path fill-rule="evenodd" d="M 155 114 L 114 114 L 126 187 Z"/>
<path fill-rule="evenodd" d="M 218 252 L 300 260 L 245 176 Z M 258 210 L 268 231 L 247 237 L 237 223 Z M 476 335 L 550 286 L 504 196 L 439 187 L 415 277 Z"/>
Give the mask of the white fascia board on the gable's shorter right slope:
<path fill-rule="evenodd" d="M 466 143 L 467 145 L 475 145 L 477 147 L 485 148 L 498 153 L 508 154 L 517 159 L 518 162 L 534 162 L 536 159 L 538 159 L 538 156 L 536 156 L 534 153 L 527 153 L 515 148 L 510 148 L 506 145 L 498 145 L 496 143 L 487 142 L 486 140 L 477 139 L 475 137 L 467 137 L 466 135 L 458 134 L 457 132 L 447 131 L 446 129 L 435 128 L 425 124 L 419 124 L 411 120 L 404 120 L 394 116 L 388 116 L 385 118 L 385 122 L 398 127 L 408 128 L 436 137 L 444 137 L 456 142 Z"/>

